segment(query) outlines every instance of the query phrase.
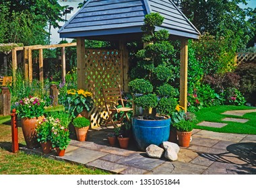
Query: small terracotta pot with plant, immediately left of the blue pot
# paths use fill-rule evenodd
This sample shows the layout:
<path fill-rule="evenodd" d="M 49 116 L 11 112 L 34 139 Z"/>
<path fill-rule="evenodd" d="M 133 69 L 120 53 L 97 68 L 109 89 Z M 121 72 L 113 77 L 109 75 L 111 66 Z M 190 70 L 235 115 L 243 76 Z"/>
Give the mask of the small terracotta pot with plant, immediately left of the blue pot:
<path fill-rule="evenodd" d="M 125 122 L 121 126 L 115 128 L 115 134 L 119 140 L 120 148 L 127 149 L 131 134 L 131 122 Z"/>

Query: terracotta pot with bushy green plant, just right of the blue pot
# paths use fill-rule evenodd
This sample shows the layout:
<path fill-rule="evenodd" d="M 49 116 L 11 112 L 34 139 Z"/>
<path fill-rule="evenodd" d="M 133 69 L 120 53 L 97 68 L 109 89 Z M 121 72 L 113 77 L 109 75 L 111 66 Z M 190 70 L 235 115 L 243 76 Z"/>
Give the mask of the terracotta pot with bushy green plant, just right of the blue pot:
<path fill-rule="evenodd" d="M 183 110 L 173 116 L 173 126 L 177 129 L 179 146 L 188 147 L 195 124 L 195 114 Z"/>

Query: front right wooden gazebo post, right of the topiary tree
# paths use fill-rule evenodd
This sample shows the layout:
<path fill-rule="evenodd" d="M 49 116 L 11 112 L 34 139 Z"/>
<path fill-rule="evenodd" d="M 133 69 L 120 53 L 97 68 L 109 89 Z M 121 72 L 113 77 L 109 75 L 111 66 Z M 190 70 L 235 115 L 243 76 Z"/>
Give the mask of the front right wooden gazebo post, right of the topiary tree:
<path fill-rule="evenodd" d="M 181 71 L 180 71 L 180 105 L 187 111 L 187 63 L 188 63 L 188 40 L 181 39 Z"/>

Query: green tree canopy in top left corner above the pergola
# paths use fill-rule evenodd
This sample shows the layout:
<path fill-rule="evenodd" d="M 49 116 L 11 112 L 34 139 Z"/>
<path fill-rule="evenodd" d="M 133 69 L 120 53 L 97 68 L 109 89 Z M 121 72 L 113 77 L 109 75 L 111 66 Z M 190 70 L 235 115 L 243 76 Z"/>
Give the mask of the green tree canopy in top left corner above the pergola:
<path fill-rule="evenodd" d="M 0 43 L 46 44 L 62 11 L 57 0 L 0 0 Z"/>

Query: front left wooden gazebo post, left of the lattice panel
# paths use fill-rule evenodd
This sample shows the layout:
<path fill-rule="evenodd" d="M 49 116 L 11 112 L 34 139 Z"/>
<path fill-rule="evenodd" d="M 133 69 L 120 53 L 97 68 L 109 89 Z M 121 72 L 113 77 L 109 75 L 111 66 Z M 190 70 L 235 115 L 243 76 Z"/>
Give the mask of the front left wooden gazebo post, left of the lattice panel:
<path fill-rule="evenodd" d="M 86 48 L 84 38 L 77 38 L 77 89 L 86 89 Z"/>

